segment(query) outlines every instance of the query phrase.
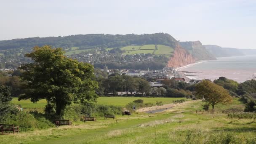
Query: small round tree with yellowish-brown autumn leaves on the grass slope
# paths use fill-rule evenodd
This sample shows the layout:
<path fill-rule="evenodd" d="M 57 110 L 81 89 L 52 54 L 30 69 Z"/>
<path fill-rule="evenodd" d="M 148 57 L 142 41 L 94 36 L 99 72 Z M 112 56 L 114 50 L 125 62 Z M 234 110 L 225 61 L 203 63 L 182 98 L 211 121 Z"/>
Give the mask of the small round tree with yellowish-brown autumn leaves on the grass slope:
<path fill-rule="evenodd" d="M 229 104 L 232 102 L 232 97 L 229 92 L 223 87 L 212 83 L 209 80 L 203 80 L 196 86 L 197 97 L 211 104 L 212 108 L 216 104 Z"/>

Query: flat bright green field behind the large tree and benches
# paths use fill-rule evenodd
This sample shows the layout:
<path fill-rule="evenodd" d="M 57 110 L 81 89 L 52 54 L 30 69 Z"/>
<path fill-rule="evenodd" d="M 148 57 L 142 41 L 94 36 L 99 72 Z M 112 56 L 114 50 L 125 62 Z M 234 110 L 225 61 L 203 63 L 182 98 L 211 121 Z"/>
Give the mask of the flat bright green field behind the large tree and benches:
<path fill-rule="evenodd" d="M 125 106 L 129 102 L 132 102 L 136 99 L 143 99 L 144 103 L 156 103 L 156 101 L 162 101 L 163 104 L 172 103 L 173 100 L 180 100 L 186 98 L 140 98 L 140 97 L 99 97 L 98 104 L 106 105 L 116 105 L 116 106 Z M 46 105 L 46 100 L 40 100 L 36 104 L 33 104 L 29 100 L 18 101 L 18 98 L 13 98 L 11 101 L 13 104 L 21 104 L 23 108 L 43 108 Z"/>

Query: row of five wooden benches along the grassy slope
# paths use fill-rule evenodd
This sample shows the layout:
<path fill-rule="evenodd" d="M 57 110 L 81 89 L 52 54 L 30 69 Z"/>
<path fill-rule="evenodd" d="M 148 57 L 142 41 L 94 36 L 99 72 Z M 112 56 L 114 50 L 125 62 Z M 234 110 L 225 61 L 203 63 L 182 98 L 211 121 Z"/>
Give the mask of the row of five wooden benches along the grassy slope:
<path fill-rule="evenodd" d="M 131 116 L 131 112 L 122 112 L 122 115 L 129 115 Z M 113 118 L 115 119 L 115 115 L 104 115 L 104 119 L 107 118 Z M 87 121 L 93 121 L 96 122 L 96 117 L 83 117 L 83 122 Z M 69 120 L 55 120 L 55 126 L 59 127 L 60 125 L 71 125 L 72 122 Z M 17 132 L 19 133 L 19 126 L 14 126 L 14 125 L 6 125 L 6 124 L 0 124 L 0 131 L 3 134 L 3 131 L 12 131 L 13 133 Z"/>

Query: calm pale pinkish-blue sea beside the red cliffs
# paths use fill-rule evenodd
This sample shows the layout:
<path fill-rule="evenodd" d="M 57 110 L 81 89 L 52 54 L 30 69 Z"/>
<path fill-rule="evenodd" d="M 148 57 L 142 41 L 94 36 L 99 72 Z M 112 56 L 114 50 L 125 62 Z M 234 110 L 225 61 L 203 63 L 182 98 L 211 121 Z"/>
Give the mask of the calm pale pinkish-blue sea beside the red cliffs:
<path fill-rule="evenodd" d="M 217 60 L 199 61 L 180 67 L 177 70 L 189 79 L 216 80 L 219 77 L 227 77 L 243 83 L 256 77 L 256 55 L 221 57 Z"/>

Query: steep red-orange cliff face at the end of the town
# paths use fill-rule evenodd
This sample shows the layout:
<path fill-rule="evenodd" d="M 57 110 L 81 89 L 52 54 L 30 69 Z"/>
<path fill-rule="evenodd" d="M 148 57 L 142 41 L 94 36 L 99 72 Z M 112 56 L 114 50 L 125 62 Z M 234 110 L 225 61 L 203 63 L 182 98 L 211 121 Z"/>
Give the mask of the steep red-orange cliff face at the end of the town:
<path fill-rule="evenodd" d="M 173 53 L 173 57 L 170 57 L 167 67 L 182 67 L 187 64 L 195 63 L 195 58 L 186 50 L 177 46 Z"/>

